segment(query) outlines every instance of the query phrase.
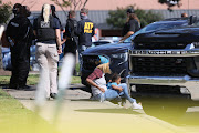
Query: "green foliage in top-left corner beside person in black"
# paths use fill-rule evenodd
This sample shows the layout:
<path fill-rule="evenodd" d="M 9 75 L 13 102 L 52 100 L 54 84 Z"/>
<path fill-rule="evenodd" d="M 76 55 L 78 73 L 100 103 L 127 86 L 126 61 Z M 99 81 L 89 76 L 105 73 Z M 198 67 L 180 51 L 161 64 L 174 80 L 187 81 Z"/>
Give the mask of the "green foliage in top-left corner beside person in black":
<path fill-rule="evenodd" d="M 11 13 L 11 3 L 2 3 L 0 0 L 0 23 L 6 23 Z"/>

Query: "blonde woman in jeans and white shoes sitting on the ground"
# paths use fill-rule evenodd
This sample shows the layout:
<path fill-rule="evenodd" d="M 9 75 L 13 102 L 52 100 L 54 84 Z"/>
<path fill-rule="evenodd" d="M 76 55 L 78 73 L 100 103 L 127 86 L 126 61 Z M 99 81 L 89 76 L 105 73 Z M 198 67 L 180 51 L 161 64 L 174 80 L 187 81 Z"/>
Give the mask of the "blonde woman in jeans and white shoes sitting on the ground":
<path fill-rule="evenodd" d="M 111 74 L 109 63 L 100 64 L 93 73 L 86 78 L 86 82 L 91 85 L 94 100 L 101 102 L 105 100 L 109 101 L 119 96 L 119 94 L 124 94 L 124 96 L 133 103 L 133 109 L 143 109 L 142 105 L 137 104 L 136 101 L 128 95 L 127 85 L 121 84 L 119 86 L 122 86 L 122 89 L 119 89 L 122 92 L 119 93 L 114 89 L 107 89 L 105 79 L 106 73 Z"/>

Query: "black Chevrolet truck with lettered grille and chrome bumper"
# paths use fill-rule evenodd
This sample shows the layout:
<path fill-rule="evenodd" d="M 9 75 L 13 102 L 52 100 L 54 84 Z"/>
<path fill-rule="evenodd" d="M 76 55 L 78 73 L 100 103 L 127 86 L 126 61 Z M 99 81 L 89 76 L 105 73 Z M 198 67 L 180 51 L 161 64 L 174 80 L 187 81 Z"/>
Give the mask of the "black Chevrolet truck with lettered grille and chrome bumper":
<path fill-rule="evenodd" d="M 146 113 L 186 112 L 199 101 L 199 22 L 138 34 L 129 64 L 128 86 Z"/>

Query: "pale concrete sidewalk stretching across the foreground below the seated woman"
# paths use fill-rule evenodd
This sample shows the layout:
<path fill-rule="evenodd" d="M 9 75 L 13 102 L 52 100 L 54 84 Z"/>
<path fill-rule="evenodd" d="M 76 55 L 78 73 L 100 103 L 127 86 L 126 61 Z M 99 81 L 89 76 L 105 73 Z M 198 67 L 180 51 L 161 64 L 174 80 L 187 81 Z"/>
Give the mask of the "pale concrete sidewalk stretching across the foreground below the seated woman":
<path fill-rule="evenodd" d="M 175 124 L 145 114 L 143 110 L 90 100 L 91 94 L 82 91 L 82 84 L 73 84 L 65 91 L 64 101 L 55 115 L 57 101 L 48 100 L 40 115 L 61 133 L 199 133 L 199 108 L 189 108 Z M 35 86 L 29 90 L 6 89 L 27 109 L 35 111 Z M 56 123 L 54 122 L 56 117 Z"/>

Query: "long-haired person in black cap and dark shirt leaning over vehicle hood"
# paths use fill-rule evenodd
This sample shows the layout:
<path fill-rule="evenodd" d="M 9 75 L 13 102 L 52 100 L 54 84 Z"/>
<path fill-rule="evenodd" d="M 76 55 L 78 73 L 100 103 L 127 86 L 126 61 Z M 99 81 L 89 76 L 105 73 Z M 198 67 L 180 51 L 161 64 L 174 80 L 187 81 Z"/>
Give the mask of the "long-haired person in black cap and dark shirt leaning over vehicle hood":
<path fill-rule="evenodd" d="M 127 9 L 126 13 L 127 13 L 127 22 L 123 28 L 123 33 L 122 33 L 123 38 L 119 40 L 119 42 L 123 42 L 125 39 L 134 34 L 140 28 L 139 19 L 134 13 L 134 9 L 132 8 Z"/>

